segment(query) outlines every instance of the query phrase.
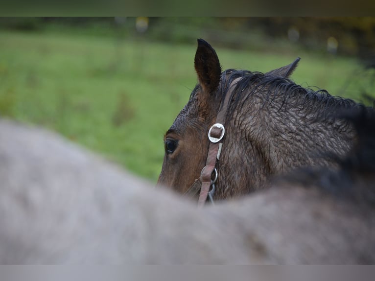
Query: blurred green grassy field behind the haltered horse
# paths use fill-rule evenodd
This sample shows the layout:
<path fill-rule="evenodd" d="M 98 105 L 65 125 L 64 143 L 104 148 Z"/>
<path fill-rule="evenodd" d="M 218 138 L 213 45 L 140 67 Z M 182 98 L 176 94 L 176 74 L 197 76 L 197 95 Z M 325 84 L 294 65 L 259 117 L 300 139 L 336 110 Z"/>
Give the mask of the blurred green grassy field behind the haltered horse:
<path fill-rule="evenodd" d="M 50 128 L 155 182 L 164 132 L 196 83 L 195 44 L 0 31 L 0 116 Z M 216 51 L 223 69 L 262 72 L 300 56 L 294 81 L 333 95 L 357 98 L 358 85 L 373 87 L 350 58 Z"/>

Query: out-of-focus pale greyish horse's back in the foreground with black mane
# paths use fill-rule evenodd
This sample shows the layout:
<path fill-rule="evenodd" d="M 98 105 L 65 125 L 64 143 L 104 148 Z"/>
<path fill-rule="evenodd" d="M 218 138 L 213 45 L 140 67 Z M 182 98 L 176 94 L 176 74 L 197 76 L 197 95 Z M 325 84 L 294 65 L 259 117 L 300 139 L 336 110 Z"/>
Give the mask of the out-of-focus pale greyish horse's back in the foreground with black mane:
<path fill-rule="evenodd" d="M 346 120 L 355 144 L 335 167 L 198 209 L 55 133 L 0 118 L 0 263 L 374 264 L 375 114 Z"/>

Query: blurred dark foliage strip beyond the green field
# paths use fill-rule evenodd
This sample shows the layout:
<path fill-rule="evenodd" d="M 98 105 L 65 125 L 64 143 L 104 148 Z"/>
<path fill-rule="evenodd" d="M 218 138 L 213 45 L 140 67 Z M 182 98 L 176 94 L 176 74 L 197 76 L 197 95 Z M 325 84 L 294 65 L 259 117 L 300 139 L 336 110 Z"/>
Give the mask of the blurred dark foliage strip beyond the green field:
<path fill-rule="evenodd" d="M 95 36 L 140 36 L 136 18 L 1 18 L 0 27 L 29 31 L 55 29 L 60 32 L 81 32 Z M 74 30 L 71 30 L 74 27 Z M 298 38 L 288 42 L 288 32 Z M 167 43 L 191 44 L 199 33 L 216 46 L 236 49 L 271 49 L 302 47 L 326 51 L 327 41 L 334 38 L 337 53 L 368 59 L 375 54 L 374 17 L 165 17 L 149 18 L 142 37 Z M 269 44 L 270 42 L 277 44 Z M 292 44 L 293 43 L 293 44 Z"/>

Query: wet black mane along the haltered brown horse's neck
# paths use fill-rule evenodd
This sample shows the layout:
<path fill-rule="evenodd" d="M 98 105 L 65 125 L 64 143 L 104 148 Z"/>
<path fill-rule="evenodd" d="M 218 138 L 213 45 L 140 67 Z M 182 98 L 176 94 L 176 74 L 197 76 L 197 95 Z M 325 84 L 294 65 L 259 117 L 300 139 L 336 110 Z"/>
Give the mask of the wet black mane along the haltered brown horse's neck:
<path fill-rule="evenodd" d="M 238 77 L 242 77 L 242 79 L 237 83 L 232 93 L 232 104 L 230 106 L 232 111 L 238 106 L 242 106 L 253 94 L 262 90 L 266 90 L 264 91 L 266 95 L 259 110 L 264 106 L 271 105 L 280 95 L 282 95 L 282 99 L 278 110 L 299 108 L 300 110 L 304 109 L 306 114 L 313 113 L 316 116 L 319 115 L 319 117 L 333 117 L 338 110 L 362 107 L 352 99 L 332 96 L 326 90 L 318 89 L 314 91 L 311 88 L 304 88 L 288 78 L 234 69 L 222 72 L 221 91 L 218 91 L 218 93 L 221 93 L 222 99 L 225 98 L 229 85 Z M 323 110 L 316 112 L 317 105 L 320 105 Z"/>

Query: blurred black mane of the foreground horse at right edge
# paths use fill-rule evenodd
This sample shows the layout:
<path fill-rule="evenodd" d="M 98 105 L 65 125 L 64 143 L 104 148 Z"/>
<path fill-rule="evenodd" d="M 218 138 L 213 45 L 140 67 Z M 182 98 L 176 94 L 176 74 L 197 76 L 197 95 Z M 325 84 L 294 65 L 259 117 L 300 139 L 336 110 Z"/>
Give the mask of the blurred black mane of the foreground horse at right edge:
<path fill-rule="evenodd" d="M 318 187 L 324 192 L 375 208 L 375 111 L 372 108 L 343 110 L 338 118 L 350 122 L 356 143 L 344 157 L 331 155 L 338 169 L 301 168 L 274 183 Z"/>

